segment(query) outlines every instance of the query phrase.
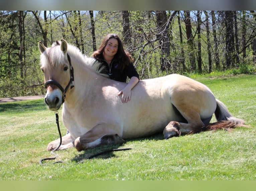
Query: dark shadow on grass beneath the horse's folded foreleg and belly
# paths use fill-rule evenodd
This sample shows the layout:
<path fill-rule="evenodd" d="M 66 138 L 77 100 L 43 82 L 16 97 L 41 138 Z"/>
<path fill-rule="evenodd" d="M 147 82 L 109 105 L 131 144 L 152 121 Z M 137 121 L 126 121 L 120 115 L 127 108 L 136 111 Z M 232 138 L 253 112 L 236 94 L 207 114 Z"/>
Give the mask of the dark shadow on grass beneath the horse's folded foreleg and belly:
<path fill-rule="evenodd" d="M 129 141 L 162 140 L 162 139 L 163 139 L 163 134 L 157 133 L 157 134 L 142 137 L 142 138 L 127 139 L 126 141 L 129 142 Z M 83 163 L 86 160 L 90 160 L 92 158 L 108 159 L 108 158 L 112 158 L 112 157 L 116 156 L 114 154 L 115 152 L 117 152 L 117 151 L 115 151 L 115 149 L 125 149 L 125 150 L 121 150 L 118 152 L 126 152 L 126 150 L 132 149 L 132 148 L 128 148 L 128 147 L 120 148 L 121 146 L 125 146 L 125 143 L 122 145 L 107 145 L 107 146 L 87 149 L 85 151 L 79 152 L 79 154 L 76 155 L 73 159 L 71 159 L 71 161 L 74 161 L 76 163 Z M 99 153 L 103 153 L 103 154 L 101 154 L 99 156 L 95 156 L 95 155 L 98 155 Z"/>

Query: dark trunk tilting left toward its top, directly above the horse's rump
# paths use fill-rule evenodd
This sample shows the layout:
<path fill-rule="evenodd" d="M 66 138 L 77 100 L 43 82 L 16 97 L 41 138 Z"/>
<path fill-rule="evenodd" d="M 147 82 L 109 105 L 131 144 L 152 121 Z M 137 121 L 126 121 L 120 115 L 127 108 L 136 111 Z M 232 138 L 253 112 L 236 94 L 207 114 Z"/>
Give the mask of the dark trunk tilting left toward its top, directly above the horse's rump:
<path fill-rule="evenodd" d="M 189 54 L 189 63 L 192 71 L 196 71 L 196 58 L 194 52 L 194 37 L 192 34 L 192 27 L 190 21 L 190 12 L 184 11 L 185 16 L 185 26 L 186 26 L 186 36 L 188 44 L 188 54 Z"/>

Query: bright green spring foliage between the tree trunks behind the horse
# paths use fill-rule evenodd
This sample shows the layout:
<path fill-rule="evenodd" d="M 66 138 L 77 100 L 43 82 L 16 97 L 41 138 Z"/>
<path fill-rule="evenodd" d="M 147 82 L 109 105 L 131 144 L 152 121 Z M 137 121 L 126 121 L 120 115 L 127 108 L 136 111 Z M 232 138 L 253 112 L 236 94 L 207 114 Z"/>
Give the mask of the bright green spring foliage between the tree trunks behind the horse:
<path fill-rule="evenodd" d="M 70 44 L 76 45 L 86 56 L 90 57 L 93 53 L 92 26 L 89 11 L 23 11 L 24 18 L 22 24 L 24 29 L 22 33 L 22 59 L 20 61 L 20 35 L 19 29 L 19 11 L 0 11 L 0 97 L 39 95 L 43 94 L 43 86 L 37 86 L 43 83 L 43 75 L 39 69 L 39 51 L 37 48 L 39 41 L 46 38 L 47 46 L 53 41 L 65 39 Z M 166 11 L 167 20 L 173 11 Z M 116 33 L 123 40 L 124 48 L 129 51 L 134 58 L 134 65 L 141 79 L 160 77 L 172 73 L 194 75 L 198 72 L 198 66 L 193 69 L 189 58 L 191 55 L 198 57 L 197 41 L 197 11 L 190 11 L 192 34 L 194 44 L 188 45 L 186 39 L 186 26 L 184 23 L 184 12 L 180 11 L 180 28 L 177 14 L 173 20 L 168 23 L 168 32 L 165 33 L 159 27 L 155 11 L 129 11 L 129 29 L 130 42 L 124 42 L 123 34 L 123 15 L 122 11 L 94 11 L 95 38 L 98 48 L 104 36 L 108 33 Z M 207 35 L 205 22 L 206 17 L 201 12 L 201 51 L 202 51 L 202 74 L 209 73 L 209 58 L 207 50 Z M 210 15 L 210 12 L 208 12 Z M 217 24 L 216 37 L 218 42 L 218 54 L 220 68 L 227 70 L 226 63 L 226 33 L 225 16 L 223 11 L 214 12 Z M 224 73 L 230 74 L 254 74 L 255 52 L 252 50 L 252 39 L 255 34 L 255 12 L 254 11 L 236 11 L 238 21 L 238 44 L 241 45 L 242 26 L 246 26 L 246 56 L 242 55 L 242 47 L 238 47 L 238 56 L 240 62 L 232 63 L 231 68 Z M 242 19 L 246 14 L 245 19 Z M 210 26 L 212 26 L 211 17 L 209 17 Z M 81 23 L 80 23 L 81 21 Z M 213 26 L 212 26 L 213 27 Z M 212 59 L 212 71 L 221 70 L 216 66 L 215 44 L 213 41 L 213 31 L 210 27 L 210 51 Z M 182 42 L 180 38 L 180 32 Z M 159 36 L 165 35 L 169 41 L 169 53 L 163 51 Z M 233 54 L 233 53 L 232 53 Z M 161 69 L 161 62 L 168 67 Z M 182 64 L 182 62 L 184 62 Z M 242 64 L 239 64 L 242 63 Z M 163 64 L 163 63 L 162 63 Z M 221 72 L 221 71 L 220 71 Z M 33 88 L 30 88 L 33 87 Z"/>

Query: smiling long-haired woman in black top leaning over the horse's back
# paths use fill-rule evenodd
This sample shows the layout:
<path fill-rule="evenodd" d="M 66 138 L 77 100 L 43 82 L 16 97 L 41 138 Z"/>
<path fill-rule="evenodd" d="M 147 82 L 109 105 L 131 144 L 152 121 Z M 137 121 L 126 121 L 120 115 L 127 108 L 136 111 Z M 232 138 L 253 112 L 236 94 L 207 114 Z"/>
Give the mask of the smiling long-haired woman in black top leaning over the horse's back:
<path fill-rule="evenodd" d="M 104 73 L 108 74 L 110 79 L 126 82 L 127 77 L 130 78 L 126 87 L 118 93 L 122 94 L 123 103 L 130 101 L 131 90 L 139 82 L 139 75 L 132 64 L 130 53 L 124 50 L 120 38 L 116 34 L 108 34 L 92 57 L 105 66 Z"/>

